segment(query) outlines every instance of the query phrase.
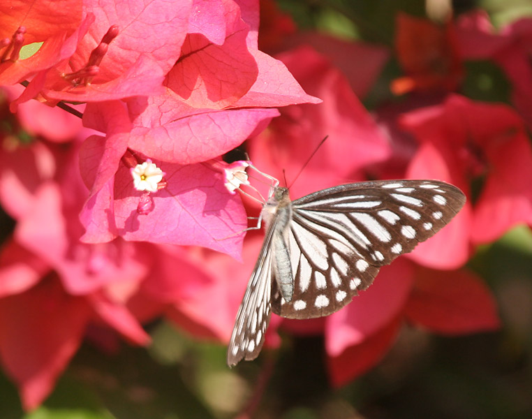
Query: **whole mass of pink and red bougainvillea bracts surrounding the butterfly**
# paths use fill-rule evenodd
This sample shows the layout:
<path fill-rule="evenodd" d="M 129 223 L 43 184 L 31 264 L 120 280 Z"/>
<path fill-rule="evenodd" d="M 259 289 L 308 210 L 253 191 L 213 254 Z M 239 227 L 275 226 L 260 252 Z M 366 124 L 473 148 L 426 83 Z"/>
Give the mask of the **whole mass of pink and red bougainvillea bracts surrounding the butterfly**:
<path fill-rule="evenodd" d="M 221 156 L 249 138 L 254 165 L 279 179 L 285 169 L 290 181 L 329 135 L 292 198 L 367 177 L 441 179 L 468 196 L 448 227 L 346 309 L 274 318 L 267 345 L 279 344 L 277 327 L 323 332 L 341 385 L 375 365 L 405 321 L 444 334 L 498 327 L 492 295 L 463 266 L 475 245 L 532 224 L 532 20 L 496 33 L 469 15 L 436 37 L 447 46 L 436 59 L 500 65 L 515 108 L 457 94 L 461 66 L 432 77 L 434 66 L 408 62 L 423 51 L 401 44 L 405 76 L 394 85 L 411 96 L 371 115 L 360 100 L 390 59 L 386 47 L 289 35 L 286 16 L 265 15 L 265 45 L 284 50 L 273 58 L 258 50 L 258 0 L 118 3 L 0 5 L 10 126 L 0 131 L 0 203 L 15 220 L 0 253 L 0 364 L 26 409 L 53 390 L 83 339 L 108 351 L 119 337 L 145 345 L 142 323 L 164 316 L 227 343 L 261 236 L 242 247 L 246 208 L 224 185 Z M 398 30 L 425 30 L 398 19 Z M 82 103 L 82 122 L 55 106 L 65 102 Z"/>

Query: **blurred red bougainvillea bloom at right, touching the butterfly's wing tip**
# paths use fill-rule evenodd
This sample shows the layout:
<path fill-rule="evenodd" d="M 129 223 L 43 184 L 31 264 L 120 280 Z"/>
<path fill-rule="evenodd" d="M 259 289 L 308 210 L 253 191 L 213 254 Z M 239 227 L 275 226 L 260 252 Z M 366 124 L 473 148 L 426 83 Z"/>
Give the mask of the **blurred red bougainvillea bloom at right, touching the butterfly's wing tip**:
<path fill-rule="evenodd" d="M 408 168 L 408 177 L 447 180 L 459 186 L 469 200 L 450 226 L 420 244 L 416 250 L 418 260 L 426 248 L 426 262 L 431 260 L 432 266 L 438 267 L 441 254 L 437 256 L 436 250 L 428 249 L 445 249 L 445 235 L 450 234 L 462 255 L 449 253 L 448 267 L 453 267 L 451 258 L 457 262 L 454 267 L 458 267 L 467 257 L 466 242 L 489 242 L 517 223 L 531 223 L 532 148 L 516 112 L 505 105 L 450 96 L 442 105 L 404 115 L 401 122 L 421 143 Z M 468 184 L 477 177 L 484 177 L 485 183 L 472 210 L 468 210 L 472 200 Z"/>

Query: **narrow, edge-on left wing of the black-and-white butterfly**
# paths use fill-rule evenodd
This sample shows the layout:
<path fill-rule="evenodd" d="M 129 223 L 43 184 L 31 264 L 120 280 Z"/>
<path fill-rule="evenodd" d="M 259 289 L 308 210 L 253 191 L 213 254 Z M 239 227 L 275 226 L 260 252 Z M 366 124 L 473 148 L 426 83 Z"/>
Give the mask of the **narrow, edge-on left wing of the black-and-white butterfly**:
<path fill-rule="evenodd" d="M 242 359 L 254 360 L 264 344 L 264 335 L 272 316 L 272 238 L 276 220 L 275 214 L 269 222 L 263 247 L 238 309 L 227 352 L 229 366 L 237 365 Z"/>

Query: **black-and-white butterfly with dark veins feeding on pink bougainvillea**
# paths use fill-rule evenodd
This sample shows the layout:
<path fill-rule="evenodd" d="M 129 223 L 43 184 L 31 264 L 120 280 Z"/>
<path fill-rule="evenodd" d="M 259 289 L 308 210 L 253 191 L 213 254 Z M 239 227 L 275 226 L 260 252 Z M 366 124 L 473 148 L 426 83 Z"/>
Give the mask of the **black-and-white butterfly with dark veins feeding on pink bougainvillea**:
<path fill-rule="evenodd" d="M 294 201 L 278 185 L 259 217 L 266 235 L 232 330 L 229 366 L 257 358 L 272 311 L 285 318 L 338 311 L 466 202 L 456 186 L 436 180 L 344 184 Z"/>

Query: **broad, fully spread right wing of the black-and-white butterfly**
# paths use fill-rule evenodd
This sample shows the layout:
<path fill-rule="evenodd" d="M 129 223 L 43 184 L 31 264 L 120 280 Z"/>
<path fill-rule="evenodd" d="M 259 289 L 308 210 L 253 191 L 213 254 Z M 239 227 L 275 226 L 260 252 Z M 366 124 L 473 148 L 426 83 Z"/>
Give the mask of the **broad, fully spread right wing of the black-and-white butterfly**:
<path fill-rule="evenodd" d="M 272 310 L 288 318 L 338 311 L 380 267 L 436 234 L 465 200 L 445 182 L 398 180 L 334 186 L 293 201 L 293 297 L 285 302 L 272 280 Z"/>

